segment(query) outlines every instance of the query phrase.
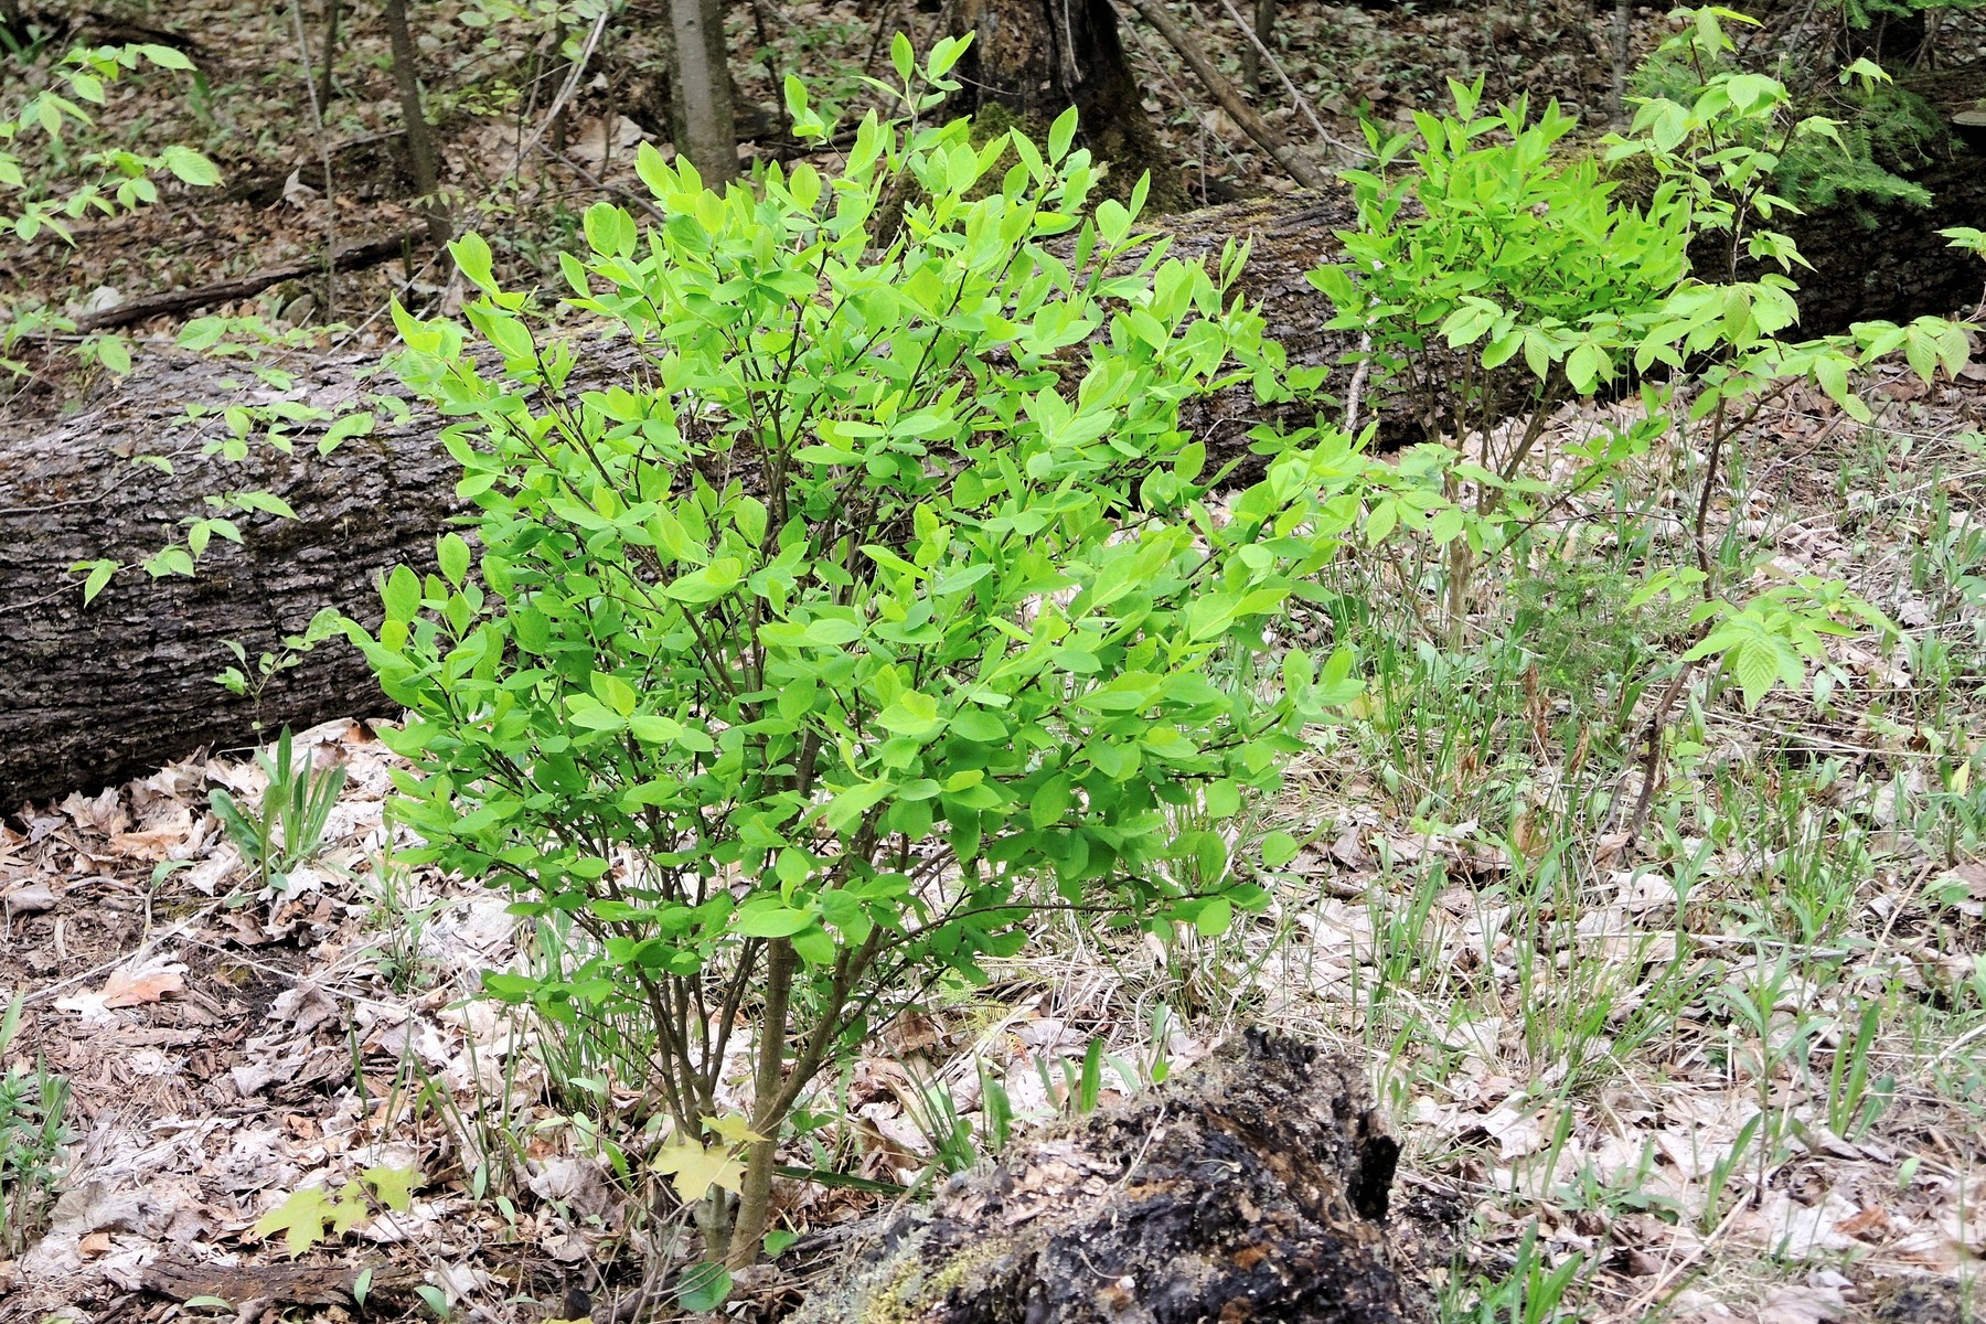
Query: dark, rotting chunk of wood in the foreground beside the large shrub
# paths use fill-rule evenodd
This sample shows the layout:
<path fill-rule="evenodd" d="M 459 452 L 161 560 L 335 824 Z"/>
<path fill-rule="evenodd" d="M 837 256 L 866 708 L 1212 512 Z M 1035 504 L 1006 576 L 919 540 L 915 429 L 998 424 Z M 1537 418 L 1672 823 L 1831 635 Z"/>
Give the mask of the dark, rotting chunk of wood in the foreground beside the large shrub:
<path fill-rule="evenodd" d="M 1400 1324 L 1364 1072 L 1249 1032 L 898 1217 L 796 1324 Z"/>

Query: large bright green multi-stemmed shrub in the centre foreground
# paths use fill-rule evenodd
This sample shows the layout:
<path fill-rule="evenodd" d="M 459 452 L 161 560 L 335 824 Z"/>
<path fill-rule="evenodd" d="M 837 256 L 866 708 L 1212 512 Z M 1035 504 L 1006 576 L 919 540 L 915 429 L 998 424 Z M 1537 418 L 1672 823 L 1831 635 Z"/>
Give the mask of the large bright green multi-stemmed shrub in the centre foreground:
<path fill-rule="evenodd" d="M 1045 147 L 923 123 L 961 52 L 918 69 L 900 38 L 904 117 L 864 117 L 832 181 L 717 195 L 643 147 L 667 220 L 598 204 L 562 262 L 598 339 L 498 288 L 477 236 L 455 260 L 489 351 L 397 314 L 475 502 L 473 542 L 352 625 L 409 709 L 399 812 L 590 939 L 487 989 L 647 1018 L 659 1161 L 733 1266 L 844 1048 L 1045 911 L 1215 933 L 1257 903 L 1223 826 L 1356 689 L 1343 651 L 1259 659 L 1364 459 L 1327 433 L 1215 506 L 1225 466 L 1180 423 L 1283 389 L 1229 294 L 1243 254 L 1166 256 L 1142 187 L 1082 218 L 1074 113 Z"/>

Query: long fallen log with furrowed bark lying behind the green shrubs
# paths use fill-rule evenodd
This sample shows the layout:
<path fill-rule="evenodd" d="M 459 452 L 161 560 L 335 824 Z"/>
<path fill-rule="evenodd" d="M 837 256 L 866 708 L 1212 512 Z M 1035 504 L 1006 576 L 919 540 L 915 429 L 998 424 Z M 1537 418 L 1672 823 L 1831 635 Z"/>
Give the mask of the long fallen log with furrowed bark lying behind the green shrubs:
<path fill-rule="evenodd" d="M 1795 238 L 1819 268 L 1801 274 L 1809 331 L 1944 314 L 1978 300 L 1978 264 L 1954 256 L 1936 230 L 1986 214 L 1986 171 L 1954 147 L 1918 179 L 1936 204 L 1887 208 L 1879 232 L 1845 210 L 1799 218 Z M 1251 240 L 1241 288 L 1261 304 L 1267 331 L 1293 363 L 1335 365 L 1356 343 L 1323 330 L 1331 310 L 1305 272 L 1337 256 L 1335 232 L 1350 220 L 1348 199 L 1331 191 L 1186 212 L 1164 224 L 1180 256 L 1215 256 L 1229 238 Z M 600 381 L 632 375 L 634 353 L 622 343 L 590 345 L 582 359 Z M 352 405 L 361 393 L 357 367 L 318 363 L 290 397 Z M 276 677 L 258 703 L 224 695 L 211 677 L 232 661 L 222 639 L 238 639 L 254 657 L 320 607 L 363 619 L 377 601 L 379 572 L 395 562 L 429 566 L 433 536 L 457 512 L 455 464 L 435 443 L 433 423 L 415 413 L 328 459 L 312 453 L 312 429 L 298 427 L 294 459 L 224 464 L 195 453 L 171 476 L 133 468 L 133 455 L 169 449 L 187 403 L 250 403 L 230 363 L 143 357 L 137 373 L 81 413 L 0 435 L 0 812 L 149 772 L 203 744 L 242 744 L 284 723 L 385 709 L 363 663 L 342 645 Z M 1202 401 L 1188 425 L 1209 455 L 1231 457 L 1245 451 L 1253 425 L 1307 423 L 1311 411 L 1265 411 L 1247 391 L 1231 391 Z M 83 605 L 70 570 L 75 562 L 137 560 L 161 544 L 161 528 L 207 514 L 207 494 L 244 488 L 282 496 L 298 518 L 244 524 L 246 544 L 211 552 L 199 580 L 121 576 Z"/>

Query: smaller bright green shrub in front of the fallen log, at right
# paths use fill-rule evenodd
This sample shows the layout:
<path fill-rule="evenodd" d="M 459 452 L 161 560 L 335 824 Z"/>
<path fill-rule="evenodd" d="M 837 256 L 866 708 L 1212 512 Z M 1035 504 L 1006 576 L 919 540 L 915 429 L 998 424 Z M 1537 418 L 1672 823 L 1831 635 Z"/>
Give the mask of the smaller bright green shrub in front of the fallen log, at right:
<path fill-rule="evenodd" d="M 1591 157 L 1569 155 L 1575 121 L 1557 103 L 1478 113 L 1482 81 L 1450 81 L 1454 115 L 1414 115 L 1414 133 L 1366 127 L 1368 171 L 1347 171 L 1358 226 L 1343 260 L 1311 272 L 1360 333 L 1386 407 L 1434 439 L 1376 480 L 1368 536 L 1424 530 L 1448 548 L 1452 627 L 1474 568 L 1567 492 L 1519 474 L 1553 409 L 1615 381 L 1688 274 L 1690 197 L 1662 181 L 1646 204 L 1617 197 Z M 1468 355 L 1456 351 L 1470 349 Z M 1521 425 L 1501 423 L 1521 415 Z M 1666 427 L 1605 431 L 1577 457 L 1589 486 Z M 1464 494 L 1474 490 L 1474 498 Z"/>

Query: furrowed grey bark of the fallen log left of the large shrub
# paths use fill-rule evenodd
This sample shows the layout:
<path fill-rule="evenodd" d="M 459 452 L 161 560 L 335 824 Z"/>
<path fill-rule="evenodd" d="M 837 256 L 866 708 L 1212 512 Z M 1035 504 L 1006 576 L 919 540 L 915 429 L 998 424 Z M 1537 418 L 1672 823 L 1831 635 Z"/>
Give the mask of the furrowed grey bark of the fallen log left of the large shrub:
<path fill-rule="evenodd" d="M 30 798 L 113 782 L 201 744 L 232 746 L 270 728 L 385 711 L 363 659 L 342 641 L 282 673 L 262 703 L 213 683 L 298 633 L 326 605 L 375 613 L 371 584 L 395 562 L 431 566 L 455 508 L 459 470 L 425 419 L 383 427 L 318 457 L 310 431 L 294 457 L 256 447 L 242 464 L 199 455 L 189 401 L 256 403 L 274 391 L 228 389 L 220 363 L 181 357 L 181 371 L 141 365 L 93 407 L 32 429 L 0 431 L 0 814 Z M 355 361 L 326 363 L 304 395 L 354 401 Z M 296 393 L 290 393 L 296 395 Z M 175 472 L 135 464 L 171 455 Z M 298 520 L 240 518 L 244 546 L 220 540 L 199 578 L 117 576 L 83 605 L 70 566 L 137 560 L 205 514 L 203 494 L 262 488 Z"/>

